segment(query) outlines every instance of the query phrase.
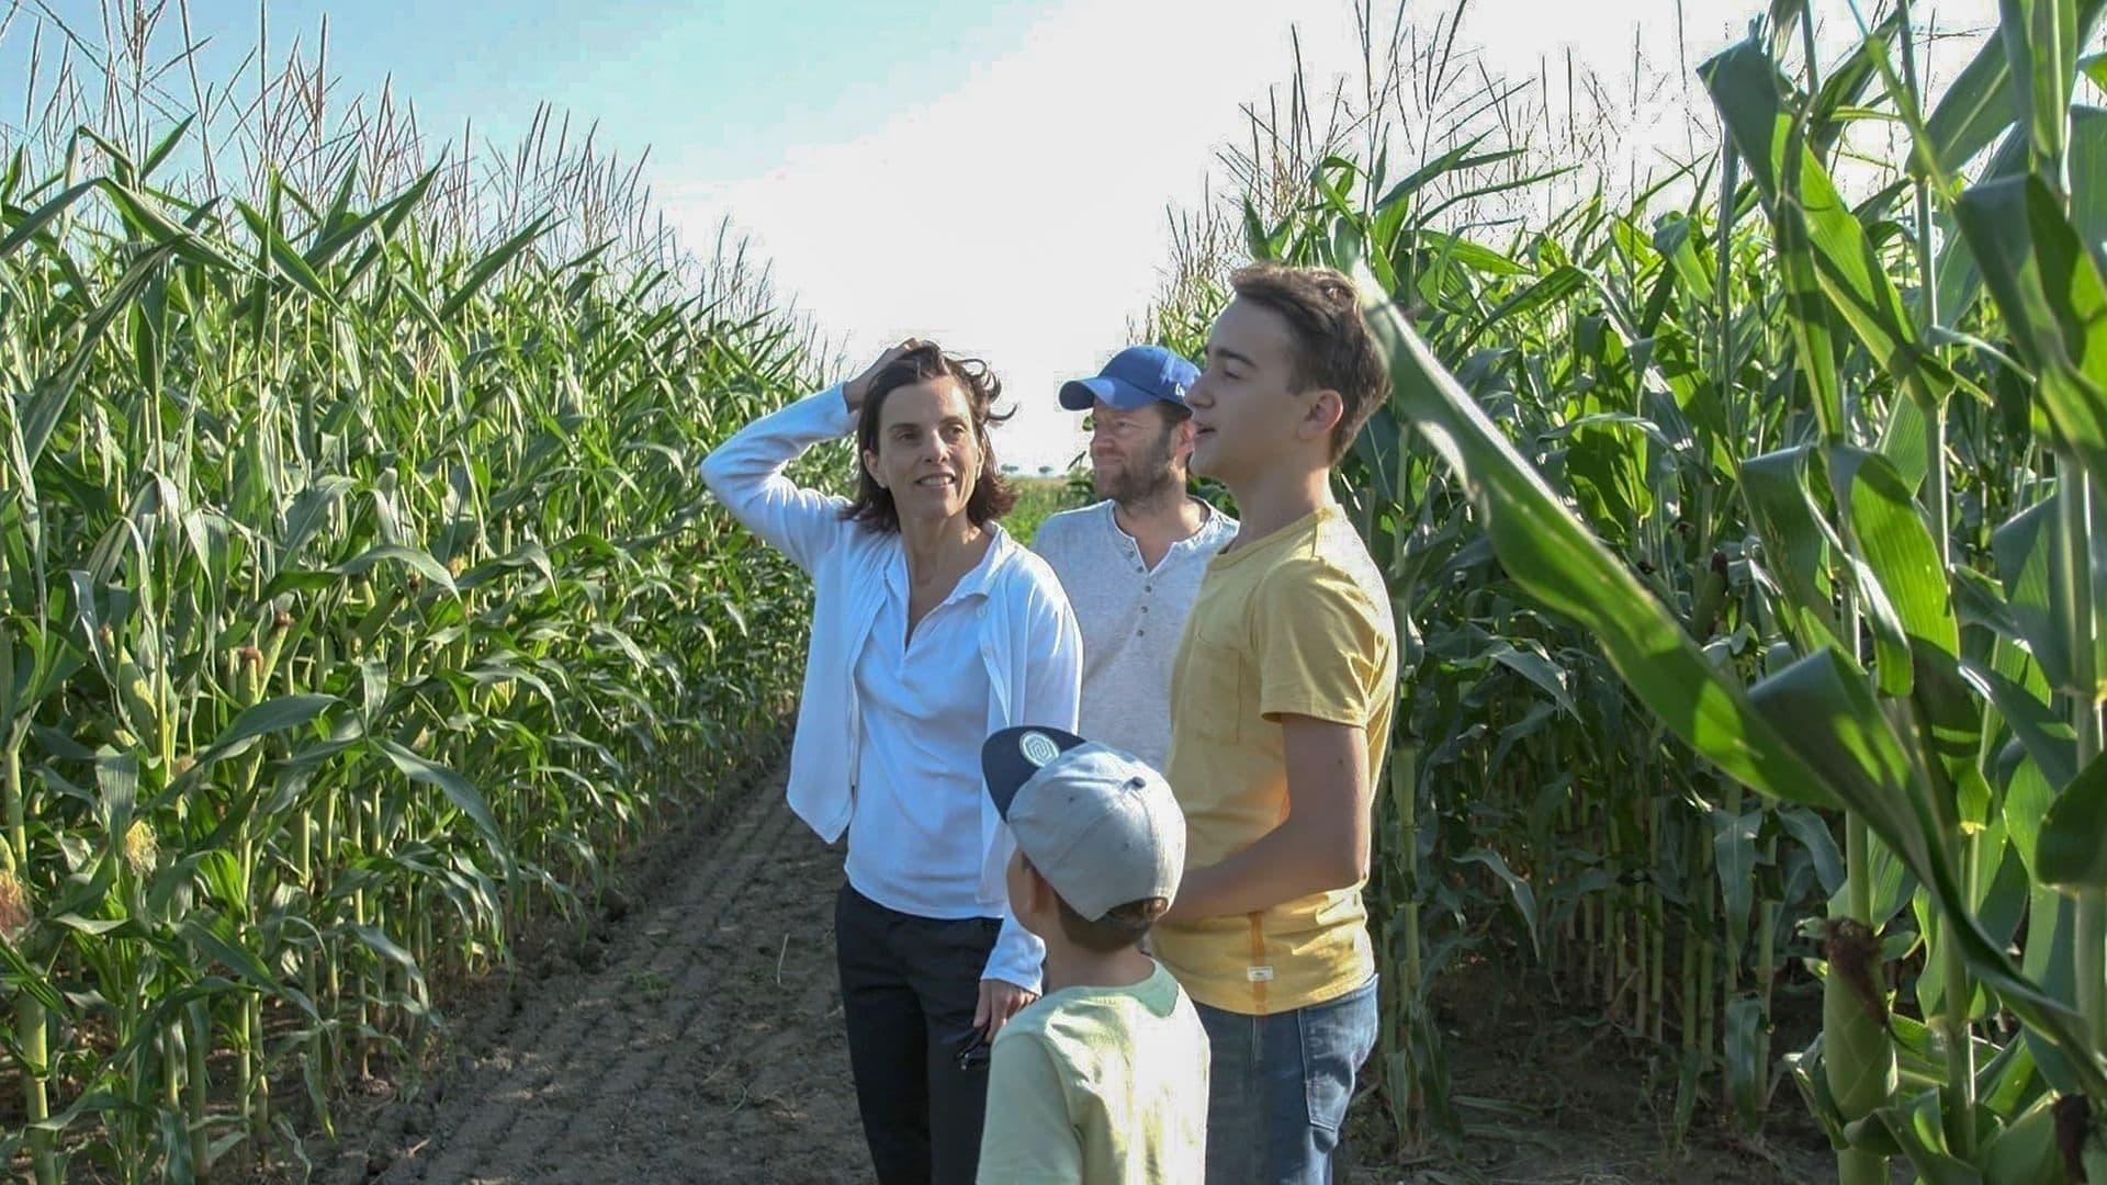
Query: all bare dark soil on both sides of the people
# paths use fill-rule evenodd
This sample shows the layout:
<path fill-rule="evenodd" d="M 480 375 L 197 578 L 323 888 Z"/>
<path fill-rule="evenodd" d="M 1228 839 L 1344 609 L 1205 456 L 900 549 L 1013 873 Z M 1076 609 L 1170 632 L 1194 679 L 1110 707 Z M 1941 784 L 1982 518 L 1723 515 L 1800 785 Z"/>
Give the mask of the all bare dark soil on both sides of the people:
<path fill-rule="evenodd" d="M 584 932 L 546 934 L 512 976 L 445 1002 L 449 1052 L 415 1082 L 373 1084 L 335 1145 L 310 1141 L 312 1179 L 868 1181 L 834 978 L 839 886 L 841 854 L 790 814 L 780 774 L 727 786 Z M 1835 1179 L 1789 1086 L 1761 1141 L 1705 1113 L 1671 1141 L 1673 1071 L 1614 1033 L 1559 1031 L 1534 995 L 1458 974 L 1443 1029 L 1456 1092 L 1488 1101 L 1466 1107 L 1473 1134 L 1403 1149 L 1363 1099 L 1353 1185 Z"/>

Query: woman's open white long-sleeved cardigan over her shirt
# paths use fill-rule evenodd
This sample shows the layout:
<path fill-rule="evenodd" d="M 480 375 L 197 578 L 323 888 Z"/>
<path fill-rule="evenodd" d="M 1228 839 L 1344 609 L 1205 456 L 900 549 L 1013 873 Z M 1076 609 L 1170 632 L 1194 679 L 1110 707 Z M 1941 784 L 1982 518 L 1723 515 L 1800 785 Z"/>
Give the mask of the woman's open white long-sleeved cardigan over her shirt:
<path fill-rule="evenodd" d="M 796 736 L 790 742 L 788 797 L 790 810 L 828 843 L 851 831 L 862 812 L 864 749 L 887 744 L 881 740 L 883 725 L 868 734 L 862 723 L 855 664 L 889 599 L 885 574 L 893 565 L 904 569 L 906 550 L 898 533 L 843 519 L 847 500 L 801 489 L 784 477 L 784 468 L 813 445 L 841 439 L 853 428 L 855 417 L 836 386 L 748 424 L 702 462 L 702 479 L 716 500 L 811 574 L 813 624 Z M 963 820 L 976 820 L 978 827 L 957 839 L 978 839 L 980 858 L 978 869 L 954 869 L 940 879 L 952 886 L 957 900 L 973 902 L 969 915 L 1003 919 L 982 976 L 1037 991 L 1045 947 L 1009 913 L 1003 873 L 1016 841 L 982 782 L 980 738 L 1024 723 L 1072 730 L 1083 641 L 1060 580 L 1007 533 L 995 531 L 982 569 L 982 595 L 959 603 L 961 616 L 965 605 L 971 607 L 973 652 L 980 656 L 986 694 L 978 717 L 957 721 L 961 736 L 969 727 L 980 734 L 969 757 L 957 753 L 957 744 L 944 744 L 959 763 L 957 778 L 973 789 L 971 805 L 961 803 L 961 812 L 946 824 L 946 837 Z M 957 599 L 957 590 L 952 595 Z M 927 626 L 925 620 L 923 628 Z M 904 635 L 902 616 L 900 637 Z M 921 671 L 908 671 L 908 679 L 919 683 Z M 952 727 L 952 721 L 946 719 L 940 730 L 944 727 Z M 851 865 L 885 869 L 919 865 L 927 856 L 919 846 L 858 843 L 853 835 L 851 848 L 858 848 Z"/>

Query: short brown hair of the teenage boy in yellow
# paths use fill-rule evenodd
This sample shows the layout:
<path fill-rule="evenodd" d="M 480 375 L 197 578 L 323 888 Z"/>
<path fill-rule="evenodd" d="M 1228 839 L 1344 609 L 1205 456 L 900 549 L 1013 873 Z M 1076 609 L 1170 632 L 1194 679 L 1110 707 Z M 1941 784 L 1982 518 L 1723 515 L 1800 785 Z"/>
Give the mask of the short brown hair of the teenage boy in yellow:
<path fill-rule="evenodd" d="M 1382 365 L 1361 297 L 1353 280 L 1332 268 L 1289 268 L 1285 264 L 1254 264 L 1228 276 L 1237 299 L 1271 308 L 1287 320 L 1294 339 L 1289 382 L 1304 390 L 1336 390 L 1342 411 L 1332 428 L 1330 460 L 1346 455 L 1355 434 L 1391 394 L 1391 375 Z"/>

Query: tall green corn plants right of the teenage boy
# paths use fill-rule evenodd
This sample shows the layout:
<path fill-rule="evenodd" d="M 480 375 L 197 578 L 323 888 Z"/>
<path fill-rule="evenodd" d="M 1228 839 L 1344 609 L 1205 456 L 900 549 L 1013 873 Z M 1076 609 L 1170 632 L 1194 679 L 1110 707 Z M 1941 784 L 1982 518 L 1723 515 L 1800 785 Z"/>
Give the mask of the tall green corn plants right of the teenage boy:
<path fill-rule="evenodd" d="M 1679 1124 L 1789 1080 L 1846 1183 L 2107 1179 L 2103 6 L 2006 2 L 1930 95 L 1911 4 L 1829 61 L 1772 4 L 1696 70 L 1717 152 L 1618 200 L 1549 198 L 1454 25 L 1330 131 L 1300 80 L 1254 114 L 1241 236 L 1186 226 L 1150 329 L 1197 346 L 1273 257 L 1355 274 L 1391 348 L 1338 489 L 1405 647 L 1401 1134 L 1471 1122 L 1431 993 L 1473 951 L 1650 1044 Z M 1774 1048 L 1799 985 L 1820 1035 Z"/>

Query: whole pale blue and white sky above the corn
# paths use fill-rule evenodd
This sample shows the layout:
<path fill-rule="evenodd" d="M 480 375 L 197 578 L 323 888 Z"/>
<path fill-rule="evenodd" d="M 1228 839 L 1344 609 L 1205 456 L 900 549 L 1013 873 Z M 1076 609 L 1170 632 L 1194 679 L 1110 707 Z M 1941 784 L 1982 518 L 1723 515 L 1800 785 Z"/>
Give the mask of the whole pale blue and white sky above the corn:
<path fill-rule="evenodd" d="M 1125 344 L 1161 283 L 1165 207 L 1199 200 L 1216 150 L 1243 131 L 1239 105 L 1289 78 L 1292 23 L 1313 78 L 1359 63 L 1348 0 L 268 6 L 274 59 L 295 36 L 312 48 L 327 11 L 339 93 L 392 74 L 430 135 L 472 118 L 478 139 L 510 145 L 546 99 L 573 129 L 598 120 L 600 143 L 626 160 L 649 145 L 645 181 L 668 221 L 706 247 L 729 217 L 851 356 L 902 335 L 986 356 L 1020 407 L 999 453 L 1030 468 L 1077 455 L 1077 417 L 1054 392 Z M 1766 6 L 1471 0 L 1460 44 L 1492 74 L 1534 78 L 1572 53 L 1618 80 L 1637 38 L 1650 72 L 1675 74 L 1679 55 L 1702 59 Z M 0 0 L 0 17 L 11 8 L 0 129 L 21 118 L 13 78 L 40 8 L 101 42 L 95 0 Z M 1414 0 L 1407 13 L 1450 8 Z M 1850 2 L 1814 11 L 1825 48 L 1848 44 Z M 1983 27 L 1995 0 L 1930 0 L 1919 19 L 1932 15 Z M 192 27 L 213 38 L 206 78 L 223 76 L 255 42 L 257 4 L 192 0 Z M 1683 99 L 1705 101 L 1694 82 L 1660 101 Z M 1679 112 L 1629 135 L 1622 148 L 1652 164 L 1656 148 L 1688 145 Z"/>

